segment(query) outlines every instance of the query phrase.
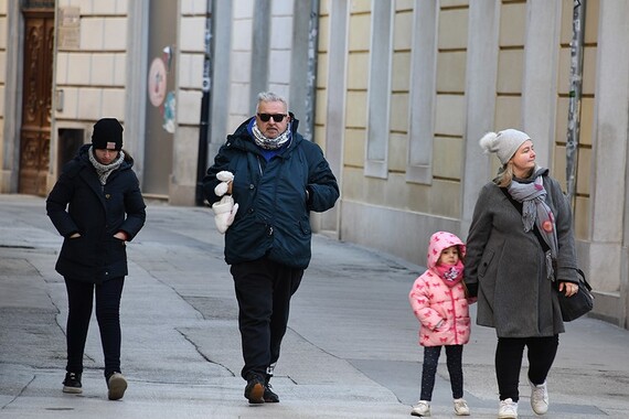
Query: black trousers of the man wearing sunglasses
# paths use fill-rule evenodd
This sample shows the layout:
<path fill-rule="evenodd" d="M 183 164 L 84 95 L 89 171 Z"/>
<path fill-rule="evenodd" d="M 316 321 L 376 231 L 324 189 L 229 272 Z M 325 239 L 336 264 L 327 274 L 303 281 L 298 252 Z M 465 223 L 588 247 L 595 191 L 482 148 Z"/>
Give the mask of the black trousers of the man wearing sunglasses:
<path fill-rule="evenodd" d="M 299 288 L 303 269 L 291 268 L 267 258 L 234 264 L 231 267 L 238 301 L 247 379 L 255 373 L 265 377 L 279 358 L 279 347 L 288 324 L 290 298 Z"/>

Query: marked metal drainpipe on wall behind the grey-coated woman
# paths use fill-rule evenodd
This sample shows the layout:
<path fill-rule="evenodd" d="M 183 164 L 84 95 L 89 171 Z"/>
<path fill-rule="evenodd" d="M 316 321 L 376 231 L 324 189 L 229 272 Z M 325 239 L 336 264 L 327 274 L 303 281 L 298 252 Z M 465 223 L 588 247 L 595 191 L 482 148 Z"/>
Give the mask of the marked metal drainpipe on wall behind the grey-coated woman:
<path fill-rule="evenodd" d="M 571 41 L 571 90 L 568 103 L 568 129 L 566 140 L 567 197 L 574 205 L 577 147 L 580 135 L 580 98 L 583 85 L 583 37 L 585 6 L 587 0 L 574 0 L 573 39 Z"/>

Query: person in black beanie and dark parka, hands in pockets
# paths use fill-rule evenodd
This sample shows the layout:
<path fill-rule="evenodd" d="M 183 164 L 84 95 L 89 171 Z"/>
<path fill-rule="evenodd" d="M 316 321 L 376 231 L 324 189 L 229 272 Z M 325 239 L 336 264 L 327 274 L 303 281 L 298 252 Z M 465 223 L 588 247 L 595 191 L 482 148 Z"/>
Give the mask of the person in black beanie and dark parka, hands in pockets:
<path fill-rule="evenodd" d="M 127 270 L 126 241 L 142 228 L 146 205 L 134 159 L 122 150 L 115 118 L 94 125 L 92 144 L 70 161 L 46 200 L 46 212 L 64 237 L 55 269 L 68 298 L 67 365 L 63 391 L 82 393 L 83 353 L 94 293 L 110 400 L 127 382 L 120 374 L 120 297 Z M 94 292 L 96 291 L 96 292 Z"/>

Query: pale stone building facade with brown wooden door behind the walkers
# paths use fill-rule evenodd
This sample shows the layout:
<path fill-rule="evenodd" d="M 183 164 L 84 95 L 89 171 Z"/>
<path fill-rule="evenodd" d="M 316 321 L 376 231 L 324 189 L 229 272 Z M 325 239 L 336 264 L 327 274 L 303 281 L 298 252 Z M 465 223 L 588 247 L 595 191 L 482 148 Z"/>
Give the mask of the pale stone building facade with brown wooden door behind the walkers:
<path fill-rule="evenodd" d="M 45 195 L 117 117 L 145 194 L 194 205 L 199 168 L 269 89 L 341 185 L 314 228 L 423 265 L 433 232 L 467 235 L 498 170 L 478 140 L 518 128 L 571 192 L 594 315 L 628 327 L 627 15 L 623 0 L 0 1 L 0 192 Z"/>

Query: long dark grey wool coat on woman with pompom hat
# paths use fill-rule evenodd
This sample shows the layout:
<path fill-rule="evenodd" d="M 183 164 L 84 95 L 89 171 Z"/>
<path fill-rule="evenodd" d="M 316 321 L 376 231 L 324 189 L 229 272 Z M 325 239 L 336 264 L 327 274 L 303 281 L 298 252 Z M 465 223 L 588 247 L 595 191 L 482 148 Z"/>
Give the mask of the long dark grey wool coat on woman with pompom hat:
<path fill-rule="evenodd" d="M 572 213 L 559 183 L 542 172 L 556 222 L 557 280 L 577 282 Z M 467 239 L 465 282 L 478 290 L 477 323 L 498 337 L 540 337 L 564 332 L 556 286 L 546 278 L 545 253 L 524 232 L 520 211 L 500 187 L 486 184 Z"/>

